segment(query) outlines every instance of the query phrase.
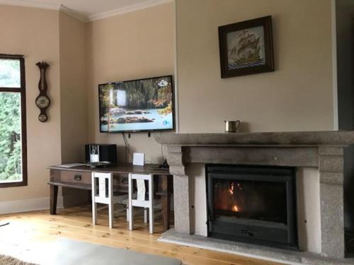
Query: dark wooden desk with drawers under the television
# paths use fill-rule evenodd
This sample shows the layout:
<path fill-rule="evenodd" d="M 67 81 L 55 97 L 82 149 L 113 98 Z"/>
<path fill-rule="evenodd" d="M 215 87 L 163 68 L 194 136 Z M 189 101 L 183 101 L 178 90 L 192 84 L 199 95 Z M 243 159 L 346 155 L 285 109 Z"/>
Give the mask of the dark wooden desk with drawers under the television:
<path fill-rule="evenodd" d="M 159 165 L 148 164 L 144 166 L 132 164 L 118 164 L 109 167 L 60 167 L 53 165 L 50 169 L 50 214 L 57 214 L 58 187 L 91 190 L 91 172 L 110 172 L 113 175 L 127 175 L 128 173 L 152 174 L 159 177 L 159 189 L 156 192 L 161 196 L 162 218 L 164 230 L 169 230 L 171 219 L 171 192 L 172 176 L 169 170 L 157 169 Z"/>

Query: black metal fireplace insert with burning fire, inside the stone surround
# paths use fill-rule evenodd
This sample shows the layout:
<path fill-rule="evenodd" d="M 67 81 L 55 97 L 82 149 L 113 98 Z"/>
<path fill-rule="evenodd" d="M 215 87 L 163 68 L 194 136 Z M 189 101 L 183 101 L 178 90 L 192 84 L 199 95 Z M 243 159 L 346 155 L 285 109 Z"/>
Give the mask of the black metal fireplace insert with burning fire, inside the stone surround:
<path fill-rule="evenodd" d="M 205 166 L 208 237 L 299 249 L 295 167 Z"/>

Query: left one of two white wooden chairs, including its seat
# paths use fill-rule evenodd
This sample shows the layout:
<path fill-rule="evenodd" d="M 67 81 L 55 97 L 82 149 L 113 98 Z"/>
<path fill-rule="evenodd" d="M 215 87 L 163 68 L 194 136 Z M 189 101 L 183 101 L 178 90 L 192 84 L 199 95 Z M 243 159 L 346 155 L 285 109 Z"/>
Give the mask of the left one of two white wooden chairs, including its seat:
<path fill-rule="evenodd" d="M 92 223 L 97 223 L 97 204 L 108 205 L 109 226 L 113 228 L 114 206 L 113 204 L 124 204 L 128 194 L 113 196 L 113 174 L 103 172 L 92 172 Z M 102 208 L 106 208 L 102 207 Z M 125 211 L 125 208 L 118 210 Z"/>

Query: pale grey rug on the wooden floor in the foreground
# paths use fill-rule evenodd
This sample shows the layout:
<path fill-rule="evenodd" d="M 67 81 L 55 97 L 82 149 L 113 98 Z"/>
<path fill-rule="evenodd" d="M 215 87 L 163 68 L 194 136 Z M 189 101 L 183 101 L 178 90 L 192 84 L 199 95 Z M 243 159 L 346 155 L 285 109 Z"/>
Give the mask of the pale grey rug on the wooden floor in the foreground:
<path fill-rule="evenodd" d="M 66 238 L 54 241 L 35 241 L 4 238 L 0 234 L 0 253 L 40 265 L 181 265 L 181 261 L 169 257 L 143 254 L 128 249 L 105 247 Z M 26 263 L 0 265 L 28 265 Z M 21 261 L 20 261 L 21 262 Z"/>

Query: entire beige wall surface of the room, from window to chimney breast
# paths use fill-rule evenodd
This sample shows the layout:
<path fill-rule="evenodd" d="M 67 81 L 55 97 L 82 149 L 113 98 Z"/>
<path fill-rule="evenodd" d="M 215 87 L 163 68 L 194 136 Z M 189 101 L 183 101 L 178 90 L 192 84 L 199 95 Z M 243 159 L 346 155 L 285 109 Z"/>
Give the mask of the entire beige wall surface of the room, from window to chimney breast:
<path fill-rule="evenodd" d="M 217 26 L 267 15 L 275 72 L 221 79 Z M 1 189 L 0 201 L 47 197 L 45 167 L 82 160 L 89 141 L 118 144 L 124 160 L 121 134 L 99 132 L 98 84 L 173 73 L 173 16 L 169 3 L 84 24 L 0 6 L 0 52 L 25 54 L 28 113 L 28 187 Z M 330 0 L 177 0 L 176 19 L 181 132 L 221 132 L 224 119 L 249 131 L 333 129 Z M 34 105 L 42 59 L 52 100 L 44 124 Z M 147 162 L 161 162 L 153 137 L 129 141 Z"/>

